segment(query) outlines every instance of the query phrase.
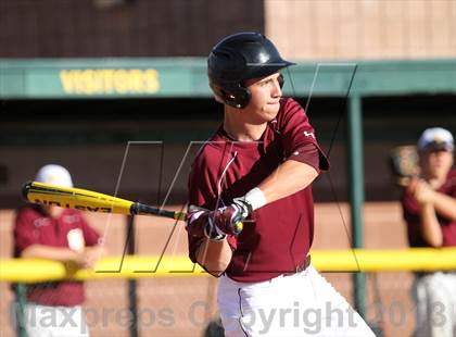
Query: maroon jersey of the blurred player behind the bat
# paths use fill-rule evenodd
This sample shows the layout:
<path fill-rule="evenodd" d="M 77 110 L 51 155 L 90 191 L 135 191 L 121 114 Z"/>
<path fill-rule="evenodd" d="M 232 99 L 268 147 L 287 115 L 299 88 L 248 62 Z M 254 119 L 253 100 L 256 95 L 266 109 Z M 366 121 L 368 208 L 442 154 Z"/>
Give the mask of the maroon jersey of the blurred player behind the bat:
<path fill-rule="evenodd" d="M 86 246 L 99 242 L 99 234 L 83 219 L 79 211 L 65 209 L 58 219 L 46 214 L 40 207 L 22 208 L 14 227 L 14 257 L 31 245 L 68 248 L 68 233 L 80 229 Z M 85 299 L 80 282 L 52 282 L 27 286 L 27 300 L 43 305 L 80 304 Z"/>

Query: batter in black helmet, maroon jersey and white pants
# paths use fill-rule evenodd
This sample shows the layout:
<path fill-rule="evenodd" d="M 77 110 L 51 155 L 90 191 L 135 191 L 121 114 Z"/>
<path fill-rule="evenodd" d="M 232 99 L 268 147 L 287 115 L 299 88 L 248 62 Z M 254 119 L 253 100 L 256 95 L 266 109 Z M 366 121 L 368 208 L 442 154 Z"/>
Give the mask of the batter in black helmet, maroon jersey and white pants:
<path fill-rule="evenodd" d="M 187 230 L 192 261 L 220 277 L 226 336 L 373 336 L 311 265 L 311 184 L 329 163 L 303 109 L 282 98 L 279 71 L 292 63 L 240 33 L 207 64 L 225 114 L 192 164 Z"/>

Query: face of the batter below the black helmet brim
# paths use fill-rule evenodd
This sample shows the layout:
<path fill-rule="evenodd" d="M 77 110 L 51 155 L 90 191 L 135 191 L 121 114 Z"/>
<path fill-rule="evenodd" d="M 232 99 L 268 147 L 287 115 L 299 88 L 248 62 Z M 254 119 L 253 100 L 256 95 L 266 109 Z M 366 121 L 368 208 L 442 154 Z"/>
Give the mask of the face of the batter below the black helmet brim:
<path fill-rule="evenodd" d="M 245 84 L 252 93 L 246 109 L 252 111 L 259 122 L 269 122 L 279 112 L 279 101 L 282 97 L 279 76 L 280 74 L 276 73 L 267 77 L 250 79 Z"/>

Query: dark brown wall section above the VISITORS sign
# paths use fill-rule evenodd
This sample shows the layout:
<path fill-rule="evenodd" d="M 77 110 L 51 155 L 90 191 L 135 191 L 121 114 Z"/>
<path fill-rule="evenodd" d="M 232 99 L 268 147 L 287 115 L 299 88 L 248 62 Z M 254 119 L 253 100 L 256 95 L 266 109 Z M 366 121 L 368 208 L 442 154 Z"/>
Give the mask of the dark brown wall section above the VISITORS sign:
<path fill-rule="evenodd" d="M 0 57 L 206 55 L 225 35 L 263 32 L 263 1 L 0 0 Z"/>

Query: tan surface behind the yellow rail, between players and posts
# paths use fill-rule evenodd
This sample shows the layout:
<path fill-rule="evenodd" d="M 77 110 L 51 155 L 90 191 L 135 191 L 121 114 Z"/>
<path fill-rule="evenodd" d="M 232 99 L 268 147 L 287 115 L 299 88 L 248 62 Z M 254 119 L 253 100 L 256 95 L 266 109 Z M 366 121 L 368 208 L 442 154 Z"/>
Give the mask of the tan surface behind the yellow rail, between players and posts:
<path fill-rule="evenodd" d="M 104 234 L 109 255 L 123 253 L 126 219 L 87 213 L 88 221 Z M 14 212 L 0 211 L 0 258 L 12 251 Z M 364 210 L 365 247 L 370 249 L 406 248 L 401 208 L 395 202 L 367 203 Z M 316 207 L 316 235 L 313 249 L 350 247 L 347 204 L 319 203 Z M 159 217 L 136 219 L 137 254 L 187 253 L 182 224 Z M 352 275 L 325 273 L 324 276 L 352 302 Z M 376 273 L 366 276 L 367 321 L 382 327 L 383 336 L 409 336 L 415 325 L 415 308 L 409 296 L 413 275 Z M 137 282 L 138 329 L 140 336 L 201 336 L 207 322 L 216 316 L 216 278 L 175 275 L 166 278 L 142 278 Z M 0 335 L 14 336 L 11 328 L 8 284 L 0 284 Z M 128 282 L 118 279 L 86 283 L 85 309 L 91 336 L 128 336 Z"/>

